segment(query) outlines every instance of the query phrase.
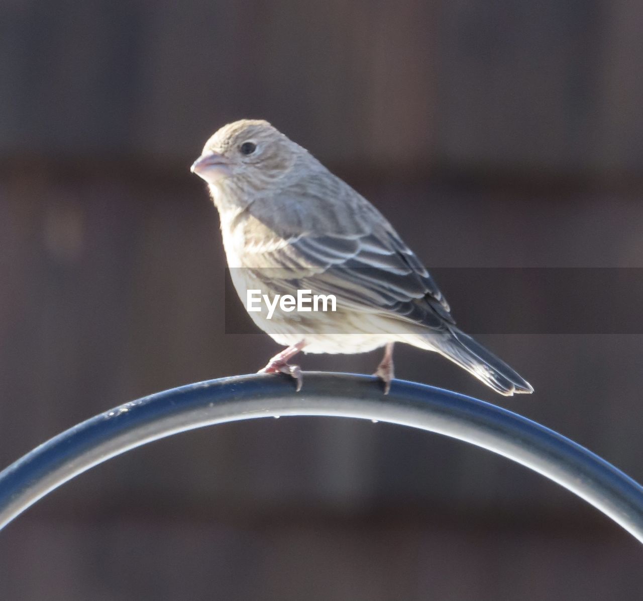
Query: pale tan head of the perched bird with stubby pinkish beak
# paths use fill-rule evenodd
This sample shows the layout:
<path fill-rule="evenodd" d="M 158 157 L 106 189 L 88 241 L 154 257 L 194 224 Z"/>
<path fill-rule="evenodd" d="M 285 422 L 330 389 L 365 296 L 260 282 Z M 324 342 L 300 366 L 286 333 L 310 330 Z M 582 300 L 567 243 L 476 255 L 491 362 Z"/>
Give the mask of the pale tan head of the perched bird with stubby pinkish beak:
<path fill-rule="evenodd" d="M 191 171 L 210 187 L 236 183 L 259 189 L 286 177 L 301 151 L 267 121 L 244 119 L 213 134 Z"/>

